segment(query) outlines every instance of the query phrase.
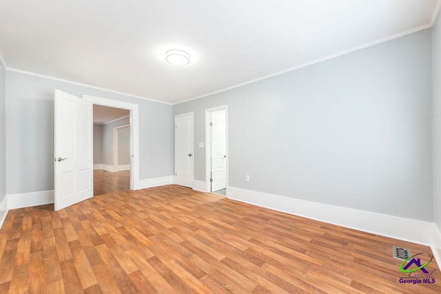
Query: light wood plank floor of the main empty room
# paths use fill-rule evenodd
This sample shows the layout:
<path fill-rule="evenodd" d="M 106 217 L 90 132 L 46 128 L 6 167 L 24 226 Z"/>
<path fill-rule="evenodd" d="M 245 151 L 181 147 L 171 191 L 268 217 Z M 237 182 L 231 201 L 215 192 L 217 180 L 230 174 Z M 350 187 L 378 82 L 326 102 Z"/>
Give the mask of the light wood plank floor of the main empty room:
<path fill-rule="evenodd" d="M 9 211 L 0 293 L 441 293 L 435 261 L 435 284 L 399 284 L 392 245 L 431 255 L 169 185 Z"/>

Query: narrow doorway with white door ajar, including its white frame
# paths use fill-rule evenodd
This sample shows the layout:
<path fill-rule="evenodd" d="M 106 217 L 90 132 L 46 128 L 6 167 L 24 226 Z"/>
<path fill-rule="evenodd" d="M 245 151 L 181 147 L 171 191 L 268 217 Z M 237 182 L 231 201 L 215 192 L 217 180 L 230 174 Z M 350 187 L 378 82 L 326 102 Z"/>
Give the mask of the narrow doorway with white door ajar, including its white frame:
<path fill-rule="evenodd" d="M 207 191 L 227 195 L 227 105 L 205 111 Z"/>

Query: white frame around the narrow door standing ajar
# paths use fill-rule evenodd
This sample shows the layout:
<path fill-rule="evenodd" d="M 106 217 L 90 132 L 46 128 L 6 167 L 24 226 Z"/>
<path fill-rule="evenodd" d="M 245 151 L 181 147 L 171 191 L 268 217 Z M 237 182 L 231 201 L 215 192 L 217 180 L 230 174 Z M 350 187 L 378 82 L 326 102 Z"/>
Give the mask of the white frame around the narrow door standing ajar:
<path fill-rule="evenodd" d="M 212 171 L 212 162 L 210 158 L 212 157 L 212 136 L 211 136 L 211 129 L 209 128 L 209 118 L 212 112 L 216 112 L 218 110 L 225 109 L 225 155 L 227 156 L 227 162 L 226 162 L 226 181 L 227 181 L 227 189 L 226 194 L 228 193 L 228 105 L 221 105 L 218 107 L 212 107 L 209 109 L 205 109 L 205 191 L 210 192 L 212 191 L 212 185 L 209 181 L 210 179 L 210 171 Z"/>

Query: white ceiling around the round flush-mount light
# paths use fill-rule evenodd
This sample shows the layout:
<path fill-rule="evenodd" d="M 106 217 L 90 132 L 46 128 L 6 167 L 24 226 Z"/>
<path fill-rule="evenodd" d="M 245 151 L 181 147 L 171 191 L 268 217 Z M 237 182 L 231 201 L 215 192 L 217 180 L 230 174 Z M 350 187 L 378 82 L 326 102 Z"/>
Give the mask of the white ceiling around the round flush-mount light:
<path fill-rule="evenodd" d="M 428 28 L 437 2 L 0 0 L 0 52 L 10 69 L 176 103 Z M 191 63 L 166 63 L 170 49 Z"/>

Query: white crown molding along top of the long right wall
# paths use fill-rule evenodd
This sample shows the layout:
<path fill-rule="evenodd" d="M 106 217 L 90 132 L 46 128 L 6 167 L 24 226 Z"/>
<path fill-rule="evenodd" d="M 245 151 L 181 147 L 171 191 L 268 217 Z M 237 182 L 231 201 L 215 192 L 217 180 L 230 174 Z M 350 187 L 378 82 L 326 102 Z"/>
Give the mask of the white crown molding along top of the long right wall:
<path fill-rule="evenodd" d="M 214 95 L 214 94 L 218 94 L 218 93 L 221 93 L 221 92 L 225 92 L 225 91 L 228 91 L 228 90 L 232 90 L 232 89 L 235 89 L 235 88 L 237 88 L 237 87 L 242 87 L 242 86 L 244 86 L 244 85 L 249 85 L 249 84 L 252 84 L 252 83 L 256 83 L 256 82 L 258 82 L 258 81 L 266 80 L 267 78 L 272 78 L 273 76 L 280 76 L 280 74 L 285 74 L 285 73 L 287 73 L 287 72 L 292 72 L 292 71 L 294 71 L 294 70 L 298 70 L 298 69 L 300 69 L 300 68 L 302 68 L 302 67 L 307 67 L 307 66 L 309 66 L 309 65 L 314 65 L 314 64 L 316 64 L 316 63 L 320 63 L 320 62 L 322 62 L 322 61 L 327 61 L 327 60 L 329 60 L 329 59 L 334 59 L 334 58 L 336 58 L 336 57 L 338 57 L 338 56 L 342 56 L 342 55 L 345 55 L 345 54 L 349 54 L 349 53 L 351 53 L 351 52 L 356 52 L 356 51 L 358 51 L 358 50 L 362 50 L 362 49 L 365 49 L 365 48 L 371 47 L 371 46 L 373 46 L 373 45 L 378 45 L 378 44 L 380 44 L 380 43 L 384 43 L 384 42 L 387 42 L 387 41 L 391 41 L 391 40 L 393 40 L 393 39 L 400 38 L 401 36 L 406 36 L 406 35 L 408 35 L 408 34 L 413 34 L 414 32 L 420 32 L 421 30 L 425 30 L 425 29 L 427 29 L 427 28 L 431 28 L 432 25 L 433 25 L 432 23 L 427 23 L 426 25 L 420 25 L 420 26 L 417 27 L 417 28 L 413 28 L 413 29 L 411 29 L 411 30 L 407 30 L 407 31 L 404 31 L 404 32 L 400 32 L 400 33 L 398 33 L 398 34 L 393 34 L 393 35 L 391 35 L 391 36 L 387 36 L 387 37 L 385 37 L 385 38 L 378 39 L 378 40 L 376 40 L 376 41 L 372 41 L 372 42 L 369 42 L 369 43 L 365 43 L 365 44 L 363 44 L 363 45 L 359 45 L 359 46 L 353 47 L 353 48 L 348 49 L 348 50 L 343 50 L 343 51 L 337 52 L 337 53 L 335 53 L 335 54 L 330 54 L 330 55 L 328 55 L 328 56 L 325 56 L 325 57 L 320 58 L 320 59 L 316 59 L 316 60 L 314 60 L 314 61 L 308 61 L 308 62 L 306 62 L 306 63 L 302 63 L 302 64 L 300 64 L 300 65 L 296 65 L 296 66 L 294 66 L 294 67 L 289 67 L 289 68 L 287 68 L 286 70 L 281 70 L 280 72 L 275 72 L 274 74 L 267 74 L 266 76 L 261 76 L 260 78 L 254 78 L 254 80 L 247 81 L 247 82 L 245 82 L 245 83 L 240 83 L 240 84 L 237 84 L 237 85 L 233 85 L 233 86 L 231 86 L 231 87 L 226 87 L 226 88 L 221 89 L 221 90 L 217 90 L 217 91 L 214 91 L 214 92 L 210 92 L 210 93 L 207 93 L 207 94 L 203 94 L 203 95 L 201 95 L 201 96 L 196 96 L 196 97 L 194 97 L 194 98 L 189 98 L 189 99 L 187 99 L 187 100 L 185 100 L 185 101 L 176 102 L 176 103 L 174 103 L 174 105 L 181 104 L 181 103 L 185 103 L 185 102 L 189 102 L 189 101 L 193 101 L 193 100 L 200 99 L 200 98 L 204 98 L 204 97 L 207 97 L 207 96 L 211 96 L 211 95 Z"/>

